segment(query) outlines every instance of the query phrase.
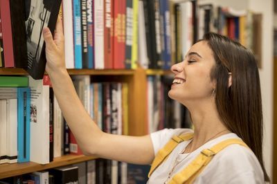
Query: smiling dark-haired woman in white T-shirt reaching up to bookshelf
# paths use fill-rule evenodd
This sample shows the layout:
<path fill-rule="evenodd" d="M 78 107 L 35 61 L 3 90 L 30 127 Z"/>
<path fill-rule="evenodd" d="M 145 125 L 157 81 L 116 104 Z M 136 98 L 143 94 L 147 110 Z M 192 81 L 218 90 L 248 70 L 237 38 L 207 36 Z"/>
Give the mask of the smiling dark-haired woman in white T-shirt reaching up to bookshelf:
<path fill-rule="evenodd" d="M 195 127 L 193 135 L 189 129 L 164 129 L 148 136 L 134 137 L 102 132 L 84 110 L 64 65 L 60 19 L 54 39 L 48 28 L 44 28 L 44 39 L 46 71 L 64 118 L 84 154 L 151 164 L 159 150 L 166 149 L 164 146 L 168 141 L 176 140 L 172 136 L 185 135 L 187 137 L 177 141 L 166 159 L 156 157 L 153 165 L 157 167 L 150 172 L 148 183 L 171 183 L 172 178 L 193 163 L 199 154 L 206 153 L 204 149 L 211 151 L 224 140 L 241 138 L 250 149 L 243 142 L 224 147 L 213 154 L 198 174 L 192 174 L 195 178 L 189 180 L 194 183 L 269 181 L 262 160 L 258 69 L 251 52 L 240 44 L 210 33 L 190 48 L 183 62 L 172 66 L 175 80 L 168 95 L 189 109 Z M 185 175 L 195 167 L 188 168 Z"/>

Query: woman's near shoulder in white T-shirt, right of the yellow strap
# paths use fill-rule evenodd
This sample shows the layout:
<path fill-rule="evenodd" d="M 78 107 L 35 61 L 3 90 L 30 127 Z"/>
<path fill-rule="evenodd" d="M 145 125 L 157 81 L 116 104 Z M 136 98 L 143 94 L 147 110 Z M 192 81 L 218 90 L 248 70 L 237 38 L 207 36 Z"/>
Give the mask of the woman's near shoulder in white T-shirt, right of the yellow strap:
<path fill-rule="evenodd" d="M 217 153 L 204 169 L 202 178 L 222 182 L 253 180 L 264 183 L 262 167 L 253 151 L 242 145 L 229 145 Z M 240 183 L 240 182 L 239 182 Z"/>

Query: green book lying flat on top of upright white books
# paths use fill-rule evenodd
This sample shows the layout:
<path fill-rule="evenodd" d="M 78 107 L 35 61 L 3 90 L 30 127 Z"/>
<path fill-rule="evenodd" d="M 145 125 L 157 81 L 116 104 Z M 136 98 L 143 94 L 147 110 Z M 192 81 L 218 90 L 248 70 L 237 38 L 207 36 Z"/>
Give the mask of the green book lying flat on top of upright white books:
<path fill-rule="evenodd" d="M 28 77 L 0 76 L 0 87 L 28 87 Z"/>

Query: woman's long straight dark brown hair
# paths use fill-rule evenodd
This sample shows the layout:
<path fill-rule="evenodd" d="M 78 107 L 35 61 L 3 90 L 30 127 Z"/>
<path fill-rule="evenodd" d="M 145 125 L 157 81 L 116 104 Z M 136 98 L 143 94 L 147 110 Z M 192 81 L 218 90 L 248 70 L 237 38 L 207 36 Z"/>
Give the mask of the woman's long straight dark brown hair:
<path fill-rule="evenodd" d="M 256 59 L 251 51 L 238 42 L 207 33 L 204 39 L 213 50 L 215 66 L 211 80 L 216 81 L 215 103 L 226 127 L 251 148 L 264 172 L 269 176 L 262 158 L 262 98 Z M 229 75 L 232 84 L 229 87 Z"/>

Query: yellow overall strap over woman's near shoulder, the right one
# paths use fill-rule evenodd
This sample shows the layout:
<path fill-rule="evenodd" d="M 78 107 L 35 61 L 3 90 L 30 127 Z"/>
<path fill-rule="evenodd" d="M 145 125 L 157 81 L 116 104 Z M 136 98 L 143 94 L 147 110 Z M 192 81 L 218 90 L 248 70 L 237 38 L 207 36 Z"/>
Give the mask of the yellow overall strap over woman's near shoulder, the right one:
<path fill-rule="evenodd" d="M 213 156 L 220 152 L 222 149 L 229 145 L 238 144 L 242 145 L 244 147 L 248 147 L 242 140 L 238 138 L 231 138 L 228 140 L 224 140 L 217 145 L 214 145 L 210 149 L 204 149 L 201 151 L 201 153 L 193 160 L 192 163 L 190 163 L 186 168 L 184 168 L 181 172 L 175 174 L 173 176 L 172 180 L 169 182 L 170 184 L 173 183 L 193 183 L 195 181 L 195 178 L 199 176 L 199 174 L 202 172 L 204 167 L 208 165 L 208 163 L 211 161 Z"/>

